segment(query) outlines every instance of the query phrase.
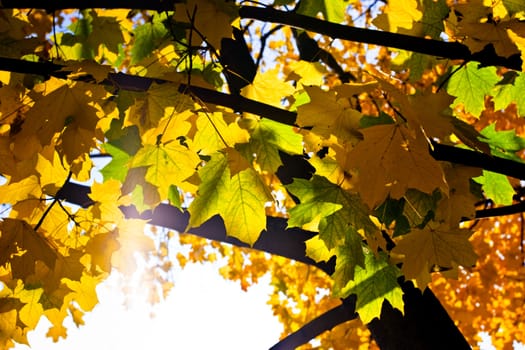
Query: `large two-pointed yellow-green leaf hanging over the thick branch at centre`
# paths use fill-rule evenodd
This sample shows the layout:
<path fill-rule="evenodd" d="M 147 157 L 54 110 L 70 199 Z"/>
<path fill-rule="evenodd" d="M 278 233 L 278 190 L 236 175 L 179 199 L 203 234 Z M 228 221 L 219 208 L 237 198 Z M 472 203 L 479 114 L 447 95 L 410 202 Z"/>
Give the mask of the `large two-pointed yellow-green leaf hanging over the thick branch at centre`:
<path fill-rule="evenodd" d="M 253 245 L 266 227 L 265 204 L 272 199 L 258 174 L 247 168 L 231 176 L 227 155 L 217 152 L 199 169 L 199 177 L 189 227 L 219 214 L 229 236 Z"/>

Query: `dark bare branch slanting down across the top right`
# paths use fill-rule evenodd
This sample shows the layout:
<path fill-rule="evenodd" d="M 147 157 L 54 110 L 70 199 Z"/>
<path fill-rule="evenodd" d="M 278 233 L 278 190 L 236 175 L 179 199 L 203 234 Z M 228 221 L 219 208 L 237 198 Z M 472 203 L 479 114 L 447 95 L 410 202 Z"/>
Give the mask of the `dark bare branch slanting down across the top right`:
<path fill-rule="evenodd" d="M 514 55 L 509 58 L 500 57 L 490 48 L 472 54 L 467 46 L 458 42 L 445 42 L 405 34 L 350 27 L 348 25 L 331 23 L 314 17 L 299 15 L 294 12 L 279 11 L 271 7 L 242 6 L 239 9 L 239 16 L 241 18 L 257 19 L 263 22 L 286 24 L 295 28 L 302 28 L 311 32 L 327 35 L 334 39 L 393 47 L 448 59 L 478 61 L 482 65 L 498 65 L 521 71 L 521 58 L 519 55 Z"/>

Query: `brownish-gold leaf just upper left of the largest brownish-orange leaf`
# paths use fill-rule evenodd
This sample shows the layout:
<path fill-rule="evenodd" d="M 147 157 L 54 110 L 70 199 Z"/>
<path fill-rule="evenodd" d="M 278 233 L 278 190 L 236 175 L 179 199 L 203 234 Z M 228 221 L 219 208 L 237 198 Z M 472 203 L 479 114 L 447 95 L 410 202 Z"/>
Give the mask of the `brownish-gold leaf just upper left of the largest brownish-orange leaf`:
<path fill-rule="evenodd" d="M 310 102 L 297 108 L 297 124 L 313 127 L 312 132 L 328 139 L 335 135 L 342 141 L 355 141 L 359 136 L 361 113 L 350 107 L 345 98 L 317 86 L 304 87 Z"/>

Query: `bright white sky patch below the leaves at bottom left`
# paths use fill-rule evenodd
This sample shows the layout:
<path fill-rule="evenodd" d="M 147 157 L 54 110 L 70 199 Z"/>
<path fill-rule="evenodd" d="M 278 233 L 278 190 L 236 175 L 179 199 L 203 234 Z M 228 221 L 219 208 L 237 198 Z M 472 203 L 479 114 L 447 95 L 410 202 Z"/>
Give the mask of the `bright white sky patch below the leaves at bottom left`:
<path fill-rule="evenodd" d="M 188 264 L 175 273 L 175 287 L 161 304 L 136 302 L 126 308 L 118 278 L 99 286 L 99 305 L 84 316 L 85 325 L 67 323 L 68 337 L 58 343 L 45 336 L 49 322 L 43 318 L 28 335 L 31 348 L 65 349 L 268 349 L 282 326 L 266 304 L 269 277 L 243 292 L 224 280 L 212 264 Z M 153 314 L 153 316 L 151 316 Z"/>

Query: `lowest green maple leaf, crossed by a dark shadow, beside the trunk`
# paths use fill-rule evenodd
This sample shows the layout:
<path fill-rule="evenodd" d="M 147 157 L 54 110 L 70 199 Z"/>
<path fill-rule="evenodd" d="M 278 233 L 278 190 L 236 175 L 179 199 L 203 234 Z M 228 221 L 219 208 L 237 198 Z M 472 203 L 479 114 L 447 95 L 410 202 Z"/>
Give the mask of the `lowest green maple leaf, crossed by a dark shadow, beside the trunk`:
<path fill-rule="evenodd" d="M 364 324 L 381 315 L 385 301 L 403 313 L 403 291 L 397 282 L 399 269 L 386 261 L 384 254 L 365 254 L 365 268 L 355 268 L 354 280 L 343 295 L 356 294 L 356 311 Z"/>

